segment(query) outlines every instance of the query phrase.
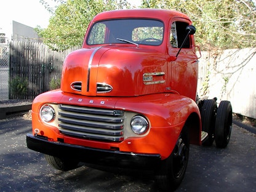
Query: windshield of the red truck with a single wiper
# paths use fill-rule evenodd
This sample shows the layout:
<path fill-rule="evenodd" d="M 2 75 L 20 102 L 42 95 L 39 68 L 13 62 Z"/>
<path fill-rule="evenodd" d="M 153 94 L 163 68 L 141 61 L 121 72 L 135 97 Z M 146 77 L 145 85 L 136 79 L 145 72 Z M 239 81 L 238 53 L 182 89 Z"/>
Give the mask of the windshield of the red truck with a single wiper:
<path fill-rule="evenodd" d="M 87 44 L 162 44 L 164 24 L 159 20 L 120 19 L 94 23 Z"/>

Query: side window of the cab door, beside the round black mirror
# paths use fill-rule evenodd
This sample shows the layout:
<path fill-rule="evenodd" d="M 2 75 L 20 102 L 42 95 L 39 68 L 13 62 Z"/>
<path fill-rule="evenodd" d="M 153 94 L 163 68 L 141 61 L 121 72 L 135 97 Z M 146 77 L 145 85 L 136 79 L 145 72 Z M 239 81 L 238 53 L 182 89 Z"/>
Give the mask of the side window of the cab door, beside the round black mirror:
<path fill-rule="evenodd" d="M 180 48 L 182 42 L 186 38 L 186 26 L 188 23 L 185 22 L 174 22 L 170 29 L 170 45 L 174 48 Z M 183 48 L 190 48 L 190 38 L 188 38 L 183 46 Z"/>

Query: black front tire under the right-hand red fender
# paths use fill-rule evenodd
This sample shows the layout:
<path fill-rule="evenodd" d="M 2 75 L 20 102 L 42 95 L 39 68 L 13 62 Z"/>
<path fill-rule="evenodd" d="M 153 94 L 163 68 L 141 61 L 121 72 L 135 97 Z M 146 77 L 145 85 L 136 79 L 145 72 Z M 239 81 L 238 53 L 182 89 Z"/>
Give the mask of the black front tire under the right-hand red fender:
<path fill-rule="evenodd" d="M 156 174 L 156 182 L 159 189 L 163 191 L 174 191 L 177 189 L 184 178 L 189 154 L 190 141 L 188 129 L 183 127 L 174 150 L 167 159 L 161 162 L 161 166 Z"/>

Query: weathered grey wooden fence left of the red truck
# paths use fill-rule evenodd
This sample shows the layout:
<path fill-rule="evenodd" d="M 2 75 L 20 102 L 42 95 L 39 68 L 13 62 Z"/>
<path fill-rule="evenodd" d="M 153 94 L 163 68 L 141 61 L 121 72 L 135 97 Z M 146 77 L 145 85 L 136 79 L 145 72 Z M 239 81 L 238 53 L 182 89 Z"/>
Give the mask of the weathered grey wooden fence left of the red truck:
<path fill-rule="evenodd" d="M 39 42 L 10 42 L 9 98 L 33 99 L 49 90 L 50 81 L 59 81 L 66 55 Z M 18 87 L 18 89 L 13 89 Z"/>

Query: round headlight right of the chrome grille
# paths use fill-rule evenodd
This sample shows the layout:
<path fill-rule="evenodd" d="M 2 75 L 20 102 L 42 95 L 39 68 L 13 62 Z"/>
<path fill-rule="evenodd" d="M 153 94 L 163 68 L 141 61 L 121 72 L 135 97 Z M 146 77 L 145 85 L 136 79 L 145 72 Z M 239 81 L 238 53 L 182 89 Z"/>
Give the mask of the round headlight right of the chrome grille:
<path fill-rule="evenodd" d="M 135 134 L 141 135 L 144 134 L 146 130 L 148 130 L 148 121 L 146 121 L 146 119 L 142 116 L 135 116 L 132 118 L 130 126 L 132 127 L 132 130 L 135 132 Z"/>

